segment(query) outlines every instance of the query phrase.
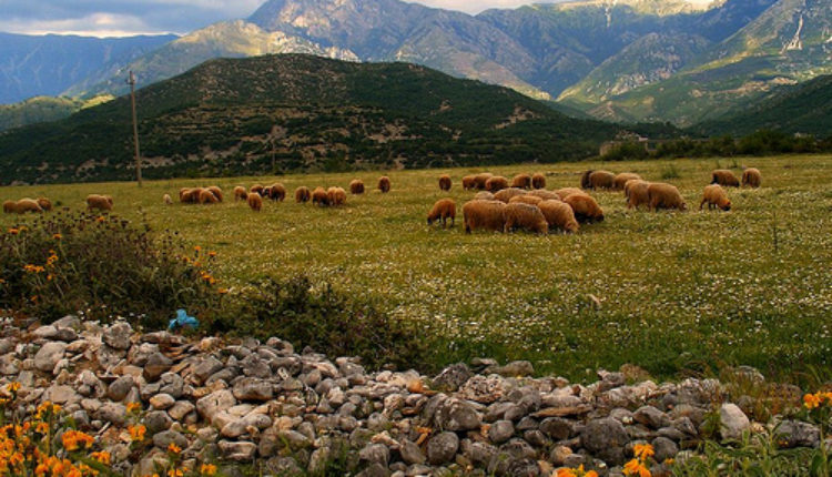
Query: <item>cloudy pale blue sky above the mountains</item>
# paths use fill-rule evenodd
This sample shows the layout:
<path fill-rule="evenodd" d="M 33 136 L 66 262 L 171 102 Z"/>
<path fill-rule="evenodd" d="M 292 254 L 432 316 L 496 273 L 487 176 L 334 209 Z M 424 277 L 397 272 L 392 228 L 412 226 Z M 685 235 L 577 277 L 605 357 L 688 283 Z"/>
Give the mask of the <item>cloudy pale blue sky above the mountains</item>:
<path fill-rule="evenodd" d="M 540 0 L 535 0 L 540 1 Z M 551 0 L 549 0 L 551 1 Z M 0 31 L 125 37 L 177 33 L 248 17 L 265 0 L 0 0 Z M 532 0 L 418 0 L 429 7 L 478 13 Z"/>

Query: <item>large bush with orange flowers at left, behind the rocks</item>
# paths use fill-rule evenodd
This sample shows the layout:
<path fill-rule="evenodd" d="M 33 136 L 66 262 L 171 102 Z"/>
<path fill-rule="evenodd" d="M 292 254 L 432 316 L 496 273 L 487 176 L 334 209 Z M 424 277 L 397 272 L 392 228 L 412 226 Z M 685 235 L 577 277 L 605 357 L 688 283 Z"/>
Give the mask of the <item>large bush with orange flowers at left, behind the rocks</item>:
<path fill-rule="evenodd" d="M 179 307 L 220 301 L 214 254 L 114 215 L 58 212 L 0 232 L 0 308 L 44 322 L 83 312 L 161 328 Z"/>

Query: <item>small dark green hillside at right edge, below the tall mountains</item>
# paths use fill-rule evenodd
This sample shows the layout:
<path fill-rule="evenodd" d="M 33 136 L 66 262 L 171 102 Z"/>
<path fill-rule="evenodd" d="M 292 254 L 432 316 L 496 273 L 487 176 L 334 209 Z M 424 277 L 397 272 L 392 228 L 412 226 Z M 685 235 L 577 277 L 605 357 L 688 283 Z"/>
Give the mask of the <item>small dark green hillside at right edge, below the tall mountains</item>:
<path fill-rule="evenodd" d="M 744 135 L 758 130 L 832 136 L 832 75 L 793 87 L 782 87 L 743 109 L 697 124 L 699 134 Z"/>

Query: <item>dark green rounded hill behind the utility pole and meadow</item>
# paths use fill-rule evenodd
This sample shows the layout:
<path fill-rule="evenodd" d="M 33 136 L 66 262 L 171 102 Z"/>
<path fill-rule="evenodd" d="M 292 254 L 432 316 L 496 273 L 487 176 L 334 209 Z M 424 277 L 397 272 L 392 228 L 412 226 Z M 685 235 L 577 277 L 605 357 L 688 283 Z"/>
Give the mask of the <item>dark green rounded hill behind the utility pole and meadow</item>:
<path fill-rule="evenodd" d="M 302 54 L 212 60 L 136 103 L 149 177 L 558 161 L 619 132 L 419 65 Z M 0 168 L 3 184 L 130 179 L 129 98 L 0 133 Z"/>

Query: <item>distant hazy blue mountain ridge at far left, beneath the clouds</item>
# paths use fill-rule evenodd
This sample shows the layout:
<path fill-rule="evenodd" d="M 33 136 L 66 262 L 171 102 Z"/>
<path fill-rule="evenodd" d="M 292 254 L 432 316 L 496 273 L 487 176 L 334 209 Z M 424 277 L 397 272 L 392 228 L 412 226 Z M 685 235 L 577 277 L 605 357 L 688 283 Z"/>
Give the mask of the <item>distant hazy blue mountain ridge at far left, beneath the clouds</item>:
<path fill-rule="evenodd" d="M 0 104 L 58 95 L 93 74 L 110 78 L 118 68 L 174 38 L 0 33 Z"/>

